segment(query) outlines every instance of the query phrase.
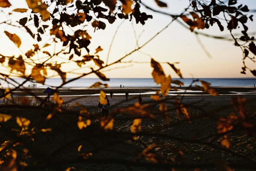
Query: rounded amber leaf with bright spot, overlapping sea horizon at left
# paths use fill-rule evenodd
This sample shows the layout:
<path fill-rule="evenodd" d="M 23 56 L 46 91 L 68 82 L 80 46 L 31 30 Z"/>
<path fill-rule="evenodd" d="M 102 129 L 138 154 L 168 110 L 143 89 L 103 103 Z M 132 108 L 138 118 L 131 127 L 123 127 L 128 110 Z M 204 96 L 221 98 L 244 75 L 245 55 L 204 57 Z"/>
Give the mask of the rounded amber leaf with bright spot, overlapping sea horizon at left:
<path fill-rule="evenodd" d="M 31 77 L 38 83 L 45 84 L 46 69 L 43 65 L 37 64 L 31 70 Z"/>

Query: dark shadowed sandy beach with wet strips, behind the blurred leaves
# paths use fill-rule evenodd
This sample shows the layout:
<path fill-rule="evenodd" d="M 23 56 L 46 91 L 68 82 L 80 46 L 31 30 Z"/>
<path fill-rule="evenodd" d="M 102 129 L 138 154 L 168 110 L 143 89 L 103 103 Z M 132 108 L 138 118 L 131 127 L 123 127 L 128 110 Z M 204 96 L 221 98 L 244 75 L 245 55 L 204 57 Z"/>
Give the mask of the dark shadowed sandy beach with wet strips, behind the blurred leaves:
<path fill-rule="evenodd" d="M 239 96 L 247 99 L 247 117 L 250 121 L 255 122 L 256 92 L 254 91 L 256 89 L 248 87 L 214 88 L 220 95 L 211 96 L 207 92 L 199 91 L 196 87 L 177 87 L 177 91 L 172 89 L 165 97 L 167 108 L 173 109 L 168 111 L 170 121 L 160 116 L 155 116 L 154 119 L 142 119 L 141 130 L 136 141 L 130 135 L 133 119 L 129 119 L 126 114 L 112 115 L 112 112 L 122 107 L 133 106 L 137 103 L 139 92 L 143 100 L 142 104 L 155 105 L 152 112 L 156 112 L 159 104 L 156 105 L 151 95 L 155 94 L 158 88 L 128 88 L 128 102 L 125 100 L 127 88 L 62 88 L 58 90 L 58 94 L 64 100 L 63 107 L 66 105 L 65 108 L 79 110 L 78 106 L 72 106 L 77 102 L 83 105 L 90 115 L 99 118 L 99 93 L 100 90 L 104 91 L 110 102 L 109 114 L 115 118 L 113 130 L 103 131 L 97 119 L 93 120 L 88 128 L 79 130 L 76 123 L 77 115 L 72 116 L 68 114 L 68 111 L 64 111 L 63 114 L 56 114 L 39 126 L 40 128 L 53 127 L 53 129 L 51 132 L 35 135 L 35 142 L 32 143 L 32 146 L 40 145 L 42 149 L 37 149 L 37 153 L 52 157 L 52 162 L 49 162 L 51 164 L 48 163 L 48 167 L 52 170 L 64 170 L 68 167 L 78 170 L 111 171 L 166 170 L 169 168 L 170 166 L 165 165 L 166 163 L 163 161 L 162 165 L 156 165 L 154 158 L 151 159 L 151 162 L 146 160 L 146 157 L 138 158 L 141 152 L 150 145 L 155 145 L 150 150 L 150 153 L 158 155 L 155 160 L 160 161 L 161 158 L 166 158 L 175 161 L 173 164 L 183 163 L 177 166 L 183 169 L 194 168 L 195 165 L 202 170 L 215 170 L 215 159 L 217 158 L 236 170 L 252 170 L 251 163 L 256 162 L 255 138 L 236 127 L 235 132 L 228 133 L 232 145 L 227 149 L 220 144 L 222 135 L 218 134 L 217 121 L 220 117 L 226 117 L 229 113 L 236 112 L 231 105 L 231 98 Z M 38 93 L 41 90 L 43 88 L 19 88 L 13 91 L 13 98 L 16 100 L 27 98 L 36 101 L 31 96 L 33 94 L 39 98 L 47 98 L 47 94 Z M 109 95 L 110 90 L 114 93 L 112 99 Z M 173 104 L 174 95 L 170 94 L 176 94 L 175 97 L 183 98 L 183 103 L 190 105 L 191 122 L 184 117 L 178 119 Z M 52 101 L 52 96 L 50 96 L 50 101 Z M 29 118 L 31 122 L 32 120 L 39 122 L 44 120 L 48 113 L 45 111 L 35 113 L 32 110 L 26 110 L 26 113 L 21 113 L 21 115 Z M 81 152 L 78 152 L 77 148 L 80 145 L 82 145 Z M 59 151 L 55 154 L 56 150 Z M 55 165 L 56 161 L 60 159 L 63 164 Z M 129 164 L 124 164 L 125 162 Z M 30 168 L 30 170 L 33 169 L 37 168 Z"/>

